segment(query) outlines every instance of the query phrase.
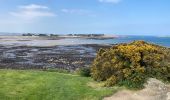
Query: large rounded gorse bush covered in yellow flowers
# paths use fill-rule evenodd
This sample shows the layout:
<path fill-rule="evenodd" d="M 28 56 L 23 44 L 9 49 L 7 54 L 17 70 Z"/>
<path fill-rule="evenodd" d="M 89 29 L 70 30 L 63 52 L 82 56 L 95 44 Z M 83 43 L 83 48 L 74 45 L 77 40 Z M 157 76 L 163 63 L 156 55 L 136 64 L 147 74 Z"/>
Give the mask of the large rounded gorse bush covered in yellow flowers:
<path fill-rule="evenodd" d="M 170 50 L 144 41 L 100 49 L 91 75 L 106 86 L 128 88 L 142 88 L 149 77 L 170 81 Z"/>

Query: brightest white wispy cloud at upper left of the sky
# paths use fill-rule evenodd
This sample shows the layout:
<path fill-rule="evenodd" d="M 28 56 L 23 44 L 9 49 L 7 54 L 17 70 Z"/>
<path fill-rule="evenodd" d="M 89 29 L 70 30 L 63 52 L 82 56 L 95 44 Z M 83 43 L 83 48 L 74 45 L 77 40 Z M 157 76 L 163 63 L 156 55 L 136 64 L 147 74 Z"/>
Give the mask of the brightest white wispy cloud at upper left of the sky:
<path fill-rule="evenodd" d="M 55 13 L 50 12 L 47 6 L 30 4 L 18 6 L 18 11 L 10 12 L 10 15 L 25 20 L 33 20 L 40 17 L 52 17 L 56 16 Z"/>

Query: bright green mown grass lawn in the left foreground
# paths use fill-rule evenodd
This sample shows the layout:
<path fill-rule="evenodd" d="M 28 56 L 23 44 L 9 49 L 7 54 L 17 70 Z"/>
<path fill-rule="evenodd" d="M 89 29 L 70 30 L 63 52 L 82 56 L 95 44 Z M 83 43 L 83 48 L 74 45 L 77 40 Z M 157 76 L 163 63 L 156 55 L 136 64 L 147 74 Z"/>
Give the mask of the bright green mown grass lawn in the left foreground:
<path fill-rule="evenodd" d="M 0 100 L 100 100 L 117 90 L 78 75 L 0 70 Z"/>

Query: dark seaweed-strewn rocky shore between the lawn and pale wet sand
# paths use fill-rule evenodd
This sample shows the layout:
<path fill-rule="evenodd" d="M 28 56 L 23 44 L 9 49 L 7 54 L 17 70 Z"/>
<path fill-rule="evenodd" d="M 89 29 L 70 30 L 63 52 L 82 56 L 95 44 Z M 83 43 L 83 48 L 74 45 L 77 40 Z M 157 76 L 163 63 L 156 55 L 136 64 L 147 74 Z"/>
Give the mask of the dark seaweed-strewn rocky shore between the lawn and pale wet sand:
<path fill-rule="evenodd" d="M 0 46 L 0 68 L 47 69 L 69 71 L 91 64 L 99 48 L 110 45 Z"/>

